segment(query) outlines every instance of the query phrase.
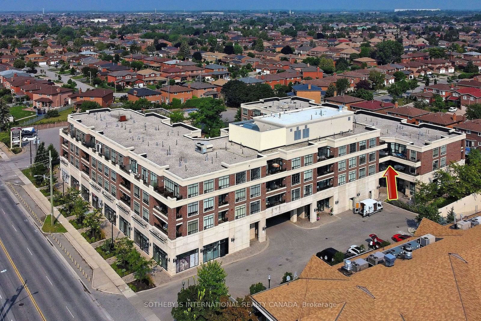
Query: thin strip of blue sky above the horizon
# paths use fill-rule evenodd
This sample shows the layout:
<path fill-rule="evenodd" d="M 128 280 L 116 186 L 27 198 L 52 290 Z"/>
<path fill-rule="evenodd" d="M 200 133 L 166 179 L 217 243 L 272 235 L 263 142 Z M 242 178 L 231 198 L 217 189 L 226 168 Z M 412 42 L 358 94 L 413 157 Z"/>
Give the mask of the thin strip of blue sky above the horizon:
<path fill-rule="evenodd" d="M 479 0 L 15 0 L 0 1 L 1 11 L 146 11 L 146 10 L 390 10 L 402 9 L 472 9 L 480 10 Z"/>

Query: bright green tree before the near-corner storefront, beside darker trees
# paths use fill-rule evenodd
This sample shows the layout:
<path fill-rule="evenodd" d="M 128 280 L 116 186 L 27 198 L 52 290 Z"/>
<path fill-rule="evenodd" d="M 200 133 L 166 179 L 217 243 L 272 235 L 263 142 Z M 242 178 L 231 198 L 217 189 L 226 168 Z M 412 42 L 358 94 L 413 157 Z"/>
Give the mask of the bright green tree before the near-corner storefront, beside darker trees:
<path fill-rule="evenodd" d="M 197 283 L 205 290 L 205 296 L 211 302 L 218 302 L 221 296 L 228 295 L 226 277 L 222 263 L 217 260 L 202 263 L 197 268 Z"/>

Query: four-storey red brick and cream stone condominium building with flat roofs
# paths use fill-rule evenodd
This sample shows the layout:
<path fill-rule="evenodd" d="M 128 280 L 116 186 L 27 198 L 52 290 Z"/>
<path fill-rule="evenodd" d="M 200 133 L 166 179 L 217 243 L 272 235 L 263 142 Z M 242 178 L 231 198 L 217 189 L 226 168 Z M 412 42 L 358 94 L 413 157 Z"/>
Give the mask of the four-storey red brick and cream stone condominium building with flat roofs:
<path fill-rule="evenodd" d="M 299 97 L 248 106 L 263 116 L 212 139 L 155 113 L 70 115 L 60 131 L 63 175 L 175 275 L 264 242 L 266 219 L 315 222 L 319 212 L 377 198 L 387 165 L 400 172 L 398 189 L 412 194 L 416 180 L 464 161 L 465 134 L 452 128 Z"/>

